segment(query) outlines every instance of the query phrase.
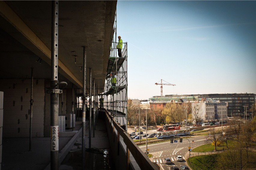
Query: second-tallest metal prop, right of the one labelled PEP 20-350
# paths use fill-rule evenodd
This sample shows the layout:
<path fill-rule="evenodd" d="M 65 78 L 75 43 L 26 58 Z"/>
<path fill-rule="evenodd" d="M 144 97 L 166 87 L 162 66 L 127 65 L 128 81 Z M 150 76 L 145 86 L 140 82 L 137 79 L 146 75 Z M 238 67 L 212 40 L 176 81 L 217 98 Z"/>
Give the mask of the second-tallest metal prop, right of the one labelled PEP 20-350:
<path fill-rule="evenodd" d="M 82 114 L 82 169 L 85 169 L 85 115 L 86 115 L 86 49 L 84 47 L 83 70 L 83 114 Z"/>

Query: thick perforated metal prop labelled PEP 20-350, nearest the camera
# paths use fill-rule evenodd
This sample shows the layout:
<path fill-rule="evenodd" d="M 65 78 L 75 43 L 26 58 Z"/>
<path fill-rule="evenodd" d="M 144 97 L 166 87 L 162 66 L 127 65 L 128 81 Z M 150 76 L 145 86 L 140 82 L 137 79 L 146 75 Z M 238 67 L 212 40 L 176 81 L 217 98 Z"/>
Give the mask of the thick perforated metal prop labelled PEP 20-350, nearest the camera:
<path fill-rule="evenodd" d="M 52 1 L 52 27 L 51 27 L 51 82 L 50 87 L 59 88 L 58 84 L 58 22 L 59 5 L 58 1 Z M 57 86 L 56 86 L 57 85 Z M 58 89 L 59 90 L 59 89 Z M 50 129 L 51 129 L 51 170 L 59 169 L 59 94 L 58 90 L 52 90 L 50 93 Z"/>

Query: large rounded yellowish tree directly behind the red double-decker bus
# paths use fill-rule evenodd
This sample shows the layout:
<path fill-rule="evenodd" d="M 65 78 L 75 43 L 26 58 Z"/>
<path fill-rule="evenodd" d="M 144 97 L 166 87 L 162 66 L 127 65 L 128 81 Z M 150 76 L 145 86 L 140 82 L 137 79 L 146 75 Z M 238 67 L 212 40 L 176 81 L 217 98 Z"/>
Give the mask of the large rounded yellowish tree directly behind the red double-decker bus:
<path fill-rule="evenodd" d="M 166 115 L 166 121 L 167 119 L 171 122 L 179 122 L 183 120 L 182 117 L 182 107 L 180 104 L 176 103 L 167 103 L 165 108 L 163 109 L 162 113 Z M 169 123 L 169 121 L 168 121 Z"/>

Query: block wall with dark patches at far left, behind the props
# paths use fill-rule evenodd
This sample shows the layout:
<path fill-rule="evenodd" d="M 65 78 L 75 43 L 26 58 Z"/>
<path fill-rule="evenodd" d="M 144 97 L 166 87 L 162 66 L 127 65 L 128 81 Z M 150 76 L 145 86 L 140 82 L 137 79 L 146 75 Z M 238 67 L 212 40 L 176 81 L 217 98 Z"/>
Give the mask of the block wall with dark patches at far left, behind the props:
<path fill-rule="evenodd" d="M 4 92 L 3 137 L 29 137 L 30 79 L 2 79 L 0 91 Z M 32 137 L 44 136 L 44 79 L 33 81 Z"/>

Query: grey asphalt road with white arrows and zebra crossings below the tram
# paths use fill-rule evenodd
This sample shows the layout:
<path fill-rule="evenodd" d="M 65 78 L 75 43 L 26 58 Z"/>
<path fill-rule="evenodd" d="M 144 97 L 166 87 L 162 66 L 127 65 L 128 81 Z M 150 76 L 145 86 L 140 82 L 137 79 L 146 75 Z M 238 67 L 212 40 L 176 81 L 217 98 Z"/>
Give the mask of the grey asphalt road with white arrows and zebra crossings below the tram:
<path fill-rule="evenodd" d="M 153 155 L 151 159 L 152 162 L 156 162 L 160 165 L 160 167 L 164 170 L 170 169 L 171 166 L 178 166 L 186 165 L 186 159 L 189 156 L 188 154 L 188 147 L 190 146 L 191 149 L 206 144 L 205 141 L 206 136 L 195 136 L 193 138 L 183 139 L 182 143 L 178 142 L 171 144 L 170 142 L 163 142 L 148 145 L 149 153 Z M 192 141 L 194 140 L 194 143 Z M 209 143 L 209 141 L 207 142 Z M 140 146 L 139 148 L 145 152 L 146 146 Z M 181 155 L 183 157 L 182 162 L 178 162 L 176 160 L 176 156 Z M 164 158 L 170 158 L 172 160 L 171 165 L 167 165 L 164 163 Z"/>

